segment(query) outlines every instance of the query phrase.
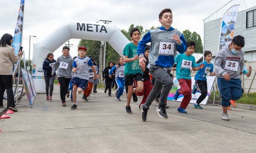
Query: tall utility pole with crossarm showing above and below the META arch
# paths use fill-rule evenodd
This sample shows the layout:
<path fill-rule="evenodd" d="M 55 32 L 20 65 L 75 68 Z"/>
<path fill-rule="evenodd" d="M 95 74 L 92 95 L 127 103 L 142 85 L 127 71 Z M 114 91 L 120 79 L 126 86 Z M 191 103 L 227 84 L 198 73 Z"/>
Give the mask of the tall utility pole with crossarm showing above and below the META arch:
<path fill-rule="evenodd" d="M 97 23 L 98 22 L 103 22 L 104 24 L 109 24 L 112 21 L 99 20 L 99 21 L 97 21 Z M 105 68 L 105 65 L 106 65 L 106 42 L 104 42 L 104 41 L 101 41 L 101 44 L 100 44 L 100 63 L 99 64 L 100 64 L 100 76 L 102 76 L 103 69 Z M 103 78 L 103 76 L 101 77 L 100 82 L 103 85 L 103 79 L 102 78 Z"/>

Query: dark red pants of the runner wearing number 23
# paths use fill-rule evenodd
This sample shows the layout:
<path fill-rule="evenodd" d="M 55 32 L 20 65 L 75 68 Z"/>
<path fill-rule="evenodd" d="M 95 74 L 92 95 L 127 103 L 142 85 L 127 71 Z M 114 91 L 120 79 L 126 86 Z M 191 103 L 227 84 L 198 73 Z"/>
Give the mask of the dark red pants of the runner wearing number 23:
<path fill-rule="evenodd" d="M 179 85 L 180 85 L 180 90 L 179 93 L 183 94 L 183 100 L 180 103 L 180 107 L 182 107 L 183 109 L 187 108 L 187 105 L 189 105 L 189 102 L 192 98 L 191 96 L 191 80 L 187 80 L 187 79 L 178 79 L 179 81 Z"/>

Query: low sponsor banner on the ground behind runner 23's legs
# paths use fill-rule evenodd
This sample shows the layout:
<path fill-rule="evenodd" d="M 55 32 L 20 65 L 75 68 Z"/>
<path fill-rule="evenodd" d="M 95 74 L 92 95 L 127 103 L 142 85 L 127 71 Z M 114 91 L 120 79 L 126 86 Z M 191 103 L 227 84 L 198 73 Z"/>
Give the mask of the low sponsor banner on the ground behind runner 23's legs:
<path fill-rule="evenodd" d="M 215 76 L 214 77 L 211 77 L 211 76 L 207 76 L 206 77 L 207 78 L 207 96 L 206 96 L 206 98 L 200 103 L 200 104 L 202 104 L 202 105 L 206 105 L 207 104 L 207 100 L 208 100 L 208 98 L 209 98 L 209 96 L 210 96 L 210 94 L 211 94 L 211 89 L 212 89 L 212 87 L 213 87 L 213 85 L 214 85 L 214 81 L 215 81 Z M 174 79 L 173 79 L 173 81 L 174 81 L 174 85 L 172 86 L 172 88 L 171 88 L 171 90 L 170 90 L 170 92 L 169 92 L 169 95 L 168 95 L 168 97 L 167 97 L 167 100 L 168 101 L 174 101 L 174 95 L 175 95 L 175 93 L 176 93 L 176 90 L 177 89 L 180 89 L 180 85 L 179 85 L 179 82 L 178 82 L 178 80 L 176 79 L 176 77 L 174 77 Z M 193 85 L 195 84 L 195 79 L 194 79 L 194 77 L 191 77 L 191 91 L 192 91 L 192 89 L 193 89 Z M 191 94 L 192 94 L 192 92 L 191 92 Z M 197 99 L 198 99 L 198 97 L 200 96 L 201 94 L 200 94 L 200 92 L 198 92 L 198 91 L 196 91 L 196 94 L 192 94 L 192 98 L 191 98 L 191 101 L 190 101 L 190 103 L 196 103 L 196 101 L 197 101 Z M 180 94 L 180 96 L 178 97 L 178 99 L 177 99 L 177 101 L 182 101 L 183 100 L 183 95 L 182 94 Z"/>

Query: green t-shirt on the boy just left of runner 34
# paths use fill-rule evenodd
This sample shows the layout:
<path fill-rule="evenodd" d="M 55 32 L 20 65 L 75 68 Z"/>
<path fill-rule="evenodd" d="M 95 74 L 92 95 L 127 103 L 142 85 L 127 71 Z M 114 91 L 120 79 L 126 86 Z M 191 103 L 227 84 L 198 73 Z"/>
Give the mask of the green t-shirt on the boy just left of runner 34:
<path fill-rule="evenodd" d="M 123 50 L 122 54 L 127 56 L 129 59 L 133 58 L 137 55 L 137 48 L 138 46 L 135 46 L 133 43 L 129 43 L 125 46 L 125 49 Z M 142 69 L 139 66 L 139 60 L 125 63 L 125 74 L 137 73 L 143 74 Z"/>

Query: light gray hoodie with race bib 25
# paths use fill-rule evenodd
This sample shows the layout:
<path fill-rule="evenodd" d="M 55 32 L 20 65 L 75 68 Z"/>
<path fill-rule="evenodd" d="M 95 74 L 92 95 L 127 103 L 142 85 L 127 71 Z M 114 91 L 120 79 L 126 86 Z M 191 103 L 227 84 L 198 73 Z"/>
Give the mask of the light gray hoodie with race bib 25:
<path fill-rule="evenodd" d="M 240 79 L 240 72 L 243 72 L 244 55 L 245 52 L 242 49 L 239 53 L 233 54 L 228 47 L 222 48 L 214 60 L 216 76 L 223 78 L 223 75 L 227 73 L 231 79 Z"/>

